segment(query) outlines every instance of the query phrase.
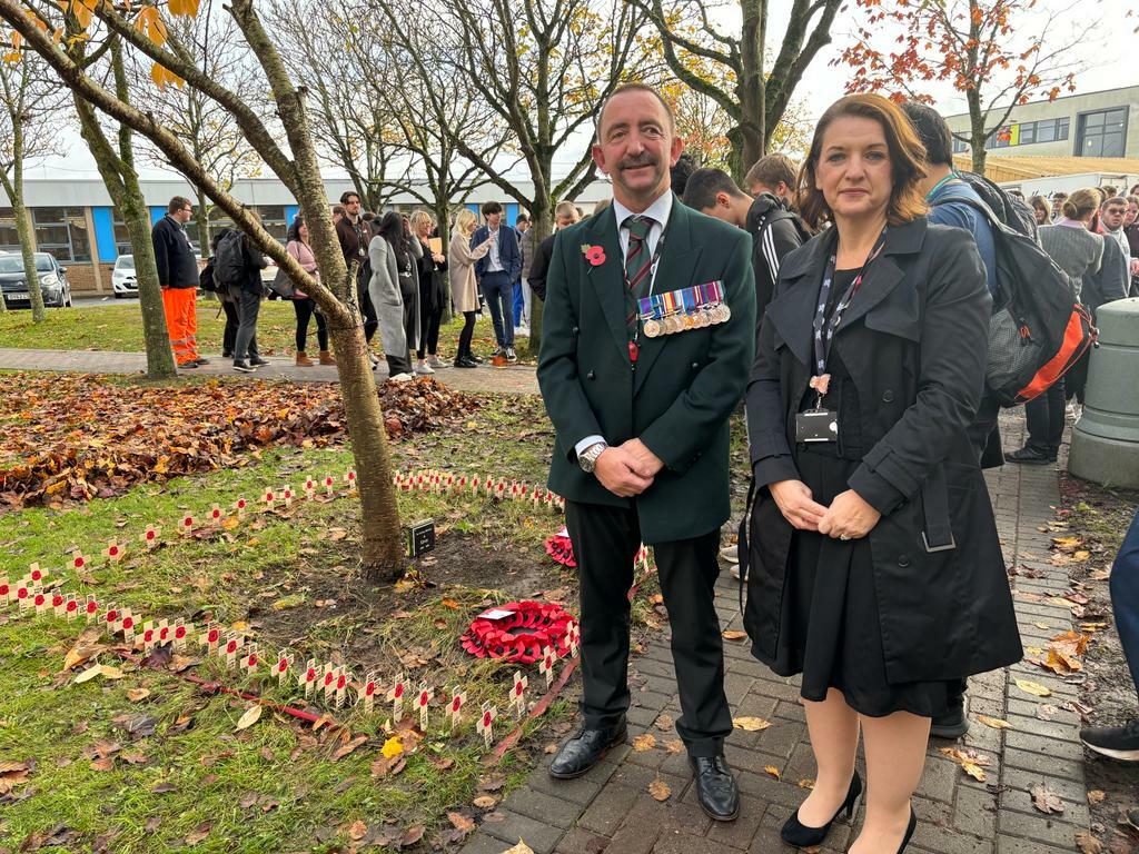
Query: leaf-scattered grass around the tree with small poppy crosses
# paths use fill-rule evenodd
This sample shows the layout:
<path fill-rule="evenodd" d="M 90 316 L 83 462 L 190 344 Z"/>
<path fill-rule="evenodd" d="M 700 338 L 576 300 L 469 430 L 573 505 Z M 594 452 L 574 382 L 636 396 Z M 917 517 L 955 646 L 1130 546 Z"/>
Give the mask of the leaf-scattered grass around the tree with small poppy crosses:
<path fill-rule="evenodd" d="M 540 401 L 487 396 L 469 420 L 411 437 L 393 452 L 401 468 L 469 468 L 540 484 L 550 445 Z M 169 532 L 187 510 L 228 507 L 238 494 L 252 498 L 284 482 L 296 487 L 305 474 L 339 474 L 350 465 L 344 447 L 272 449 L 251 454 L 243 468 L 141 484 L 88 503 L 15 509 L 0 516 L 0 574 L 14 578 L 39 561 L 67 591 L 95 593 L 145 619 L 216 619 L 263 648 L 287 647 L 298 662 L 344 663 L 358 676 L 374 671 L 382 684 L 403 672 L 409 684 L 432 685 L 436 704 L 461 684 L 472 714 L 456 737 L 440 726 L 442 707 L 433 705 L 418 749 L 400 771 L 385 773 L 380 748 L 391 732 L 379 708 L 371 715 L 330 709 L 345 730 L 313 730 L 265 708 L 239 730 L 249 703 L 203 691 L 182 676 L 294 706 L 305 705 L 303 696 L 268 676 L 239 675 L 197 648 L 192 655 L 204 660 L 182 674 L 161 660 L 156 668 L 138 667 L 106 637 L 81 635 L 79 623 L 0 608 L 0 851 L 451 846 L 461 839 L 458 828 L 493 811 L 534 754 L 560 738 L 572 691 L 527 725 L 519 749 L 487 765 L 474 709 L 484 699 L 495 703 L 502 713 L 495 739 L 505 736 L 513 726 L 506 698 L 517 667 L 475 659 L 457 642 L 473 616 L 510 599 L 563 600 L 576 611 L 574 576 L 542 549 L 563 524 L 557 514 L 469 494 L 401 494 L 401 518 L 434 518 L 439 541 L 434 552 L 409 561 L 410 581 L 395 588 L 359 577 L 352 498 L 251 515 L 232 529 L 181 537 L 149 553 L 139 545 L 147 524 Z M 112 536 L 129 545 L 118 564 L 97 557 Z M 63 568 L 75 548 L 93 558 L 85 572 Z M 79 642 L 93 648 L 87 650 L 92 662 L 121 668 L 122 678 L 77 684 L 75 674 L 89 664 L 66 672 L 64 662 Z M 536 667 L 527 672 L 536 698 L 541 679 Z M 350 750 L 351 737 L 364 738 Z"/>

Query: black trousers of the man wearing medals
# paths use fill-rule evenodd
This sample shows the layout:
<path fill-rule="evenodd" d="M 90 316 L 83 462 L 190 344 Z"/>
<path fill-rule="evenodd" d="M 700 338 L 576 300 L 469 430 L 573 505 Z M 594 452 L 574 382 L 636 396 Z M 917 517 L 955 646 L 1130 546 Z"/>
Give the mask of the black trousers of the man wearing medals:
<path fill-rule="evenodd" d="M 581 578 L 581 714 L 587 728 L 608 729 L 629 708 L 629 589 L 640 525 L 633 509 L 573 501 L 566 525 Z M 719 547 L 719 531 L 655 545 L 683 713 L 677 732 L 690 756 L 722 754 L 732 728 L 713 592 Z"/>

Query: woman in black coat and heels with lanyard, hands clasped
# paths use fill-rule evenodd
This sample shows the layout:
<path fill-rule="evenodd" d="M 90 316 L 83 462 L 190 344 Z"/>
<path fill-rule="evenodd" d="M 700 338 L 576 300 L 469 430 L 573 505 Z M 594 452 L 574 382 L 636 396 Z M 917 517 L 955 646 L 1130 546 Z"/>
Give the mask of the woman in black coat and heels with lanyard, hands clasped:
<path fill-rule="evenodd" d="M 760 660 L 802 673 L 818 763 L 782 836 L 818 845 L 853 810 L 861 726 L 855 854 L 906 847 L 931 717 L 962 678 L 1021 658 L 966 433 L 991 297 L 969 233 L 925 220 L 923 159 L 885 98 L 850 96 L 823 114 L 801 210 L 833 228 L 780 266 L 747 391 L 757 492 L 745 625 Z"/>

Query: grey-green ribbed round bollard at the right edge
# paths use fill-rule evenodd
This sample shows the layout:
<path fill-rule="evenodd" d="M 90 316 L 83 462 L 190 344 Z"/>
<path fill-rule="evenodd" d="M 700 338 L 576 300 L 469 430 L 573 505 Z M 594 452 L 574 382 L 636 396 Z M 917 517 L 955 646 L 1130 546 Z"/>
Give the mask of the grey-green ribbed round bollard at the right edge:
<path fill-rule="evenodd" d="M 1083 414 L 1068 471 L 1105 486 L 1139 488 L 1139 297 L 1099 307 Z"/>

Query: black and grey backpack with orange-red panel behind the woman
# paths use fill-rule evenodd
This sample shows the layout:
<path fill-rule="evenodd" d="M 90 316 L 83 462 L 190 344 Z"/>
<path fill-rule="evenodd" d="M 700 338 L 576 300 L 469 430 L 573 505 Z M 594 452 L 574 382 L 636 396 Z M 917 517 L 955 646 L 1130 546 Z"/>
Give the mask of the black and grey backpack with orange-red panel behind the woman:
<path fill-rule="evenodd" d="M 1076 302 L 1068 274 L 1033 237 L 1006 225 L 983 202 L 952 200 L 984 215 L 997 251 L 985 381 L 1002 407 L 1027 403 L 1091 346 L 1091 315 Z"/>

